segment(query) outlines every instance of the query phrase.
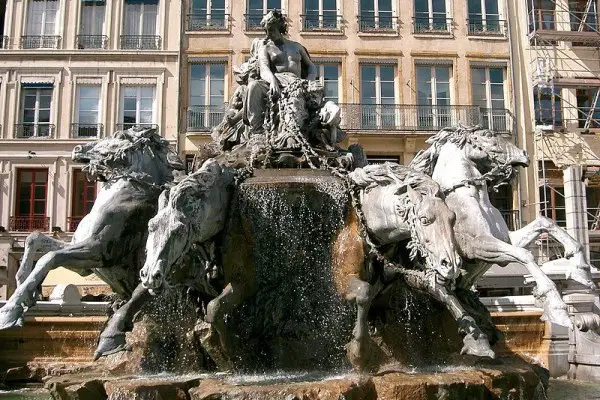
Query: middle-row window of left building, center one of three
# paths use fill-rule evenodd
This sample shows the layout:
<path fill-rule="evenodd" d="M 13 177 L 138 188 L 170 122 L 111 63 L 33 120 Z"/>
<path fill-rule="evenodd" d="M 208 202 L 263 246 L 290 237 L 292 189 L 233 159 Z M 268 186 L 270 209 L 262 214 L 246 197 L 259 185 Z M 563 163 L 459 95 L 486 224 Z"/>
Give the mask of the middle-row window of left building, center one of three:
<path fill-rule="evenodd" d="M 100 122 L 100 86 L 77 87 L 77 121 L 73 125 L 74 137 L 98 137 L 102 133 Z"/>

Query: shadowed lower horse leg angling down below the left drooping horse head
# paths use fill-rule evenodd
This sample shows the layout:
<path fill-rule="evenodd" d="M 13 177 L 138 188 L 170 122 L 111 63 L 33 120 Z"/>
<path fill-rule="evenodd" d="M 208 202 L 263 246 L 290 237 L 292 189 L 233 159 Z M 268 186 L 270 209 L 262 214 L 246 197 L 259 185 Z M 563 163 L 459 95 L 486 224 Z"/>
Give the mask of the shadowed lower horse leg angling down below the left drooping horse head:
<path fill-rule="evenodd" d="M 98 339 L 94 361 L 102 356 L 131 350 L 125 341 L 125 333 L 133 329 L 133 318 L 142 306 L 152 298 L 148 289 L 141 283 L 133 291 L 131 298 L 108 320 Z"/>

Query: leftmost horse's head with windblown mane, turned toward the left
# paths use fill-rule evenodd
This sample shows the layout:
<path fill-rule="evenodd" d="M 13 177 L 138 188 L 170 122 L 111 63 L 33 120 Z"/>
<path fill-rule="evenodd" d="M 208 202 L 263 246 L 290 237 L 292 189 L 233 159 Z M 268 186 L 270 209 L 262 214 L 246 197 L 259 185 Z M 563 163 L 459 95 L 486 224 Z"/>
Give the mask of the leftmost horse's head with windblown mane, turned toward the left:
<path fill-rule="evenodd" d="M 172 179 L 173 170 L 184 169 L 179 157 L 169 150 L 169 142 L 155 129 L 131 128 L 77 145 L 71 158 L 86 164 L 84 171 L 101 181 L 129 176 L 163 184 Z"/>

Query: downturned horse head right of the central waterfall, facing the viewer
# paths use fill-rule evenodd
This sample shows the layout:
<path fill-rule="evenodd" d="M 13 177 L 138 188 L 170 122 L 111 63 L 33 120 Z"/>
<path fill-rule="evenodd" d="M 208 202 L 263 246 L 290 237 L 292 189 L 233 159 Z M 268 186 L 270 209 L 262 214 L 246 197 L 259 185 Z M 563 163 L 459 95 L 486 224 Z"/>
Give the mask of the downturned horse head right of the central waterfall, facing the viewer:
<path fill-rule="evenodd" d="M 438 196 L 423 194 L 407 186 L 407 195 L 412 207 L 408 220 L 411 227 L 411 258 L 420 252 L 445 280 L 458 277 L 461 258 L 454 238 L 456 214 Z"/>

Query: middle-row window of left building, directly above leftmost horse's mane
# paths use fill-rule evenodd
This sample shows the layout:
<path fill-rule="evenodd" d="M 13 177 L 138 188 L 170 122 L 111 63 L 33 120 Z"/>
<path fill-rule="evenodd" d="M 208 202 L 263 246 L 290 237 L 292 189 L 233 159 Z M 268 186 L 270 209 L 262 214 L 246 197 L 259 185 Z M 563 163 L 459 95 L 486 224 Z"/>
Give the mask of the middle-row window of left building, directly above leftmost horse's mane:
<path fill-rule="evenodd" d="M 125 86 L 121 91 L 122 129 L 154 123 L 154 86 Z"/>

